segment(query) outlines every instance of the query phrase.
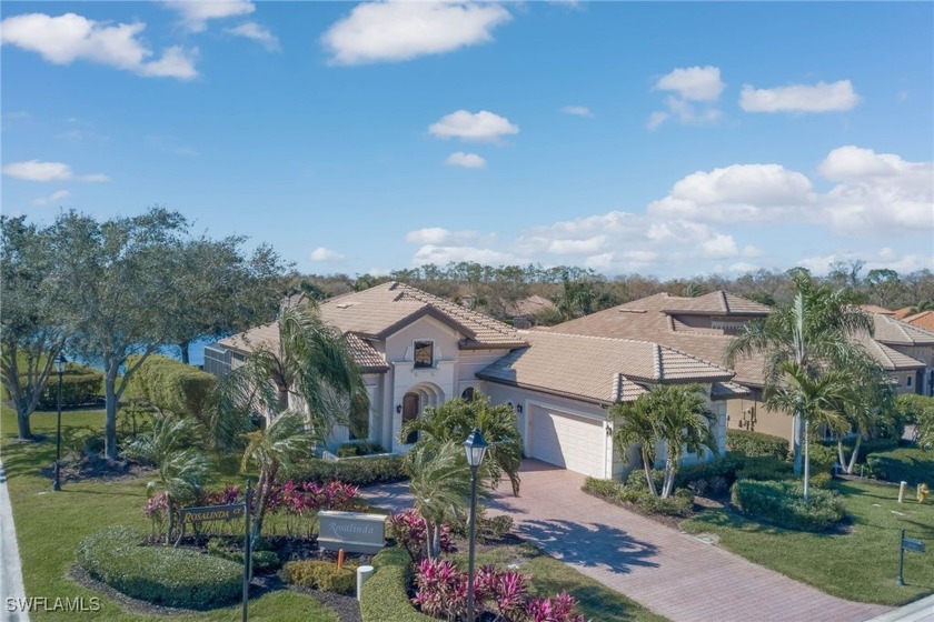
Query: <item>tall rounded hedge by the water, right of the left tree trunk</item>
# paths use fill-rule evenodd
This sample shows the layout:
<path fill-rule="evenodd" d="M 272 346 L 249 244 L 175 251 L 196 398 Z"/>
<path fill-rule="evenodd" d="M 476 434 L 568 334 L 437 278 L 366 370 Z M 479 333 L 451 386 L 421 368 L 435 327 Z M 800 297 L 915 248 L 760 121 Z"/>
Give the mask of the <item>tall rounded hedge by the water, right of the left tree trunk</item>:
<path fill-rule="evenodd" d="M 140 395 L 156 408 L 201 419 L 217 377 L 181 361 L 152 354 L 137 370 L 133 382 Z"/>

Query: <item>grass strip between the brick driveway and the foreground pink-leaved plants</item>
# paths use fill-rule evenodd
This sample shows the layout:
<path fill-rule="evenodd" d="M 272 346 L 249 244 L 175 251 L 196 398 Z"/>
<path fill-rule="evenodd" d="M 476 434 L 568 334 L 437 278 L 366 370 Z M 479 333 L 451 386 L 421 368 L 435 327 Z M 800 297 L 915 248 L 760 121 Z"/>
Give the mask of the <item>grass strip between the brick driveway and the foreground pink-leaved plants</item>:
<path fill-rule="evenodd" d="M 466 552 L 456 553 L 451 555 L 451 559 L 466 569 Z M 587 620 L 602 622 L 662 622 L 666 620 L 619 592 L 584 576 L 531 544 L 504 545 L 477 552 L 477 566 L 490 563 L 500 569 L 517 564 L 519 572 L 531 574 L 529 592 L 535 596 L 554 596 L 562 590 L 568 592 L 577 599 L 578 612 L 583 613 Z"/>

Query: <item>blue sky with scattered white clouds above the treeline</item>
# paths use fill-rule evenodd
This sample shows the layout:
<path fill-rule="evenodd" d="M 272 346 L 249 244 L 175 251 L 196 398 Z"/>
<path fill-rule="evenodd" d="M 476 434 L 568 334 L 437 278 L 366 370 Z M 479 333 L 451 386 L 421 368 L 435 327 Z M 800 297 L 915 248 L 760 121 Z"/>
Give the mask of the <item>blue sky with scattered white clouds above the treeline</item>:
<path fill-rule="evenodd" d="M 3 2 L 2 210 L 304 272 L 934 269 L 934 3 Z"/>

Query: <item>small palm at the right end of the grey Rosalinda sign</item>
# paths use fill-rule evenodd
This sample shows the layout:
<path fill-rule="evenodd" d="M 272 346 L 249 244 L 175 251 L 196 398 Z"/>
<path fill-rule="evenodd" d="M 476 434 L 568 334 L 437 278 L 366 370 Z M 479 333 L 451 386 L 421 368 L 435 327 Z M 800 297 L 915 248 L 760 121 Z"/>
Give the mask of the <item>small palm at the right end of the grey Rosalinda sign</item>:
<path fill-rule="evenodd" d="M 458 519 L 470 494 L 470 470 L 463 443 L 446 441 L 435 448 L 417 444 L 407 454 L 411 480 L 409 493 L 415 509 L 425 519 L 428 558 L 441 549 L 441 525 Z"/>

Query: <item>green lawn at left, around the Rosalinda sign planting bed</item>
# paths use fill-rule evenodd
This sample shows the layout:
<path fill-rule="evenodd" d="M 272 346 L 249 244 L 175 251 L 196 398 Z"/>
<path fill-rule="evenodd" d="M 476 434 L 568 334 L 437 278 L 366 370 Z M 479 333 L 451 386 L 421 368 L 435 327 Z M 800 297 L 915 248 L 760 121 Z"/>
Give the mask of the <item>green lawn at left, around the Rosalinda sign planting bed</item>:
<path fill-rule="evenodd" d="M 62 427 L 103 429 L 103 411 L 62 413 Z M 163 620 L 162 616 L 125 612 L 113 601 L 87 590 L 66 576 L 74 562 L 74 550 L 87 535 L 112 524 L 136 525 L 149 530 L 142 514 L 146 503 L 146 480 L 108 483 L 64 483 L 53 493 L 51 481 L 39 469 L 54 461 L 56 413 L 32 415 L 34 433 L 48 434 L 38 443 L 16 441 L 16 414 L 0 408 L 0 457 L 7 471 L 13 520 L 17 526 L 23 582 L 27 596 L 56 598 L 98 596 L 101 611 L 89 614 L 96 621 Z M 216 482 L 242 482 L 242 475 L 216 475 Z M 73 613 L 32 612 L 32 620 L 71 620 Z M 179 622 L 235 621 L 240 608 L 228 606 L 209 612 L 172 616 Z M 277 591 L 250 600 L 250 620 L 336 622 L 336 614 L 311 596 Z"/>

